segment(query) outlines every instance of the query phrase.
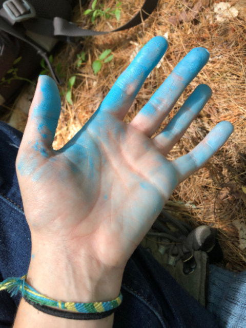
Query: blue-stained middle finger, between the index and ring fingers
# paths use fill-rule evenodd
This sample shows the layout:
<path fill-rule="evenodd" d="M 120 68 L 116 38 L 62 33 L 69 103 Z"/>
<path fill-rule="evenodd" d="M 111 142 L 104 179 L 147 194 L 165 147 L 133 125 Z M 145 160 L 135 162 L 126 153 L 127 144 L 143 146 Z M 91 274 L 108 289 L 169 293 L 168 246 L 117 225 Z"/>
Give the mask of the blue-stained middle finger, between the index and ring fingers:
<path fill-rule="evenodd" d="M 192 49 L 178 63 L 130 124 L 151 137 L 172 110 L 183 90 L 208 60 L 208 50 L 204 48 Z"/>

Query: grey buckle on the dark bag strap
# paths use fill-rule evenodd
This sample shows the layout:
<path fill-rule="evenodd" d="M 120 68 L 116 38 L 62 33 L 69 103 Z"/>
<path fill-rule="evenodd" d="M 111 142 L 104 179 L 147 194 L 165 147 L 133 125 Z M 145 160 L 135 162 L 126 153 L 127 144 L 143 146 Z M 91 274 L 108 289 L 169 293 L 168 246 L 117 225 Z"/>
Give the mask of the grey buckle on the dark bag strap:
<path fill-rule="evenodd" d="M 26 0 L 7 0 L 3 3 L 3 8 L 12 21 L 22 22 L 35 17 L 35 9 Z"/>

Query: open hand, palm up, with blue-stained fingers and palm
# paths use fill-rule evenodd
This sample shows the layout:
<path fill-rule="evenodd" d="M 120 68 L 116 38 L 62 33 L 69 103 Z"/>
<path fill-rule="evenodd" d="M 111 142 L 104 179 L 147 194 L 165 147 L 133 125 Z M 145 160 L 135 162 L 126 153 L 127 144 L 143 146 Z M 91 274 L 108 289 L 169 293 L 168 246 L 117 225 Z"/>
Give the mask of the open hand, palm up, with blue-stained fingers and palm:
<path fill-rule="evenodd" d="M 39 263 L 46 257 L 42 244 L 59 260 L 68 259 L 77 277 L 99 281 L 100 275 L 108 275 L 106 285 L 118 279 L 175 187 L 206 164 L 233 132 L 231 123 L 221 122 L 187 155 L 166 159 L 211 97 L 211 89 L 199 85 L 151 139 L 207 63 L 209 53 L 203 48 L 188 53 L 130 124 L 122 121 L 167 46 L 165 38 L 154 37 L 87 124 L 59 150 L 52 148 L 59 92 L 51 78 L 40 76 L 16 160 L 32 244 L 42 254 Z M 54 260 L 53 255 L 49 258 Z"/>

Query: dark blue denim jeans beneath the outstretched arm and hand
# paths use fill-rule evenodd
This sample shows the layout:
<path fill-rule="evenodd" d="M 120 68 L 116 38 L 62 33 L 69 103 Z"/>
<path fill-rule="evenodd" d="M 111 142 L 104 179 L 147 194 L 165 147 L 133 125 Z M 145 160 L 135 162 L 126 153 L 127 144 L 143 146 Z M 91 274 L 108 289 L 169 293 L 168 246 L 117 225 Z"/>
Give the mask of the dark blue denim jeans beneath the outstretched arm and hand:
<path fill-rule="evenodd" d="M 31 234 L 15 170 L 23 134 L 0 121 L 0 282 L 22 277 L 31 258 Z M 123 302 L 114 328 L 216 328 L 214 316 L 138 246 L 125 268 Z M 22 294 L 0 292 L 0 327 L 11 327 Z"/>

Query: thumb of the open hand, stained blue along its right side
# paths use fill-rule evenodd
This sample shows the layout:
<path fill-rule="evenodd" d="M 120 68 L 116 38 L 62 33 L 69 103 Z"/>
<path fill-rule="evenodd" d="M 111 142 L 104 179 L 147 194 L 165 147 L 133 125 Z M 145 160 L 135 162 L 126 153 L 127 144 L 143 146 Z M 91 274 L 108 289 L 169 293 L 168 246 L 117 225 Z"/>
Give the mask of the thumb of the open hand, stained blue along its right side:
<path fill-rule="evenodd" d="M 40 75 L 20 148 L 33 148 L 48 157 L 60 115 L 60 95 L 53 79 Z"/>

